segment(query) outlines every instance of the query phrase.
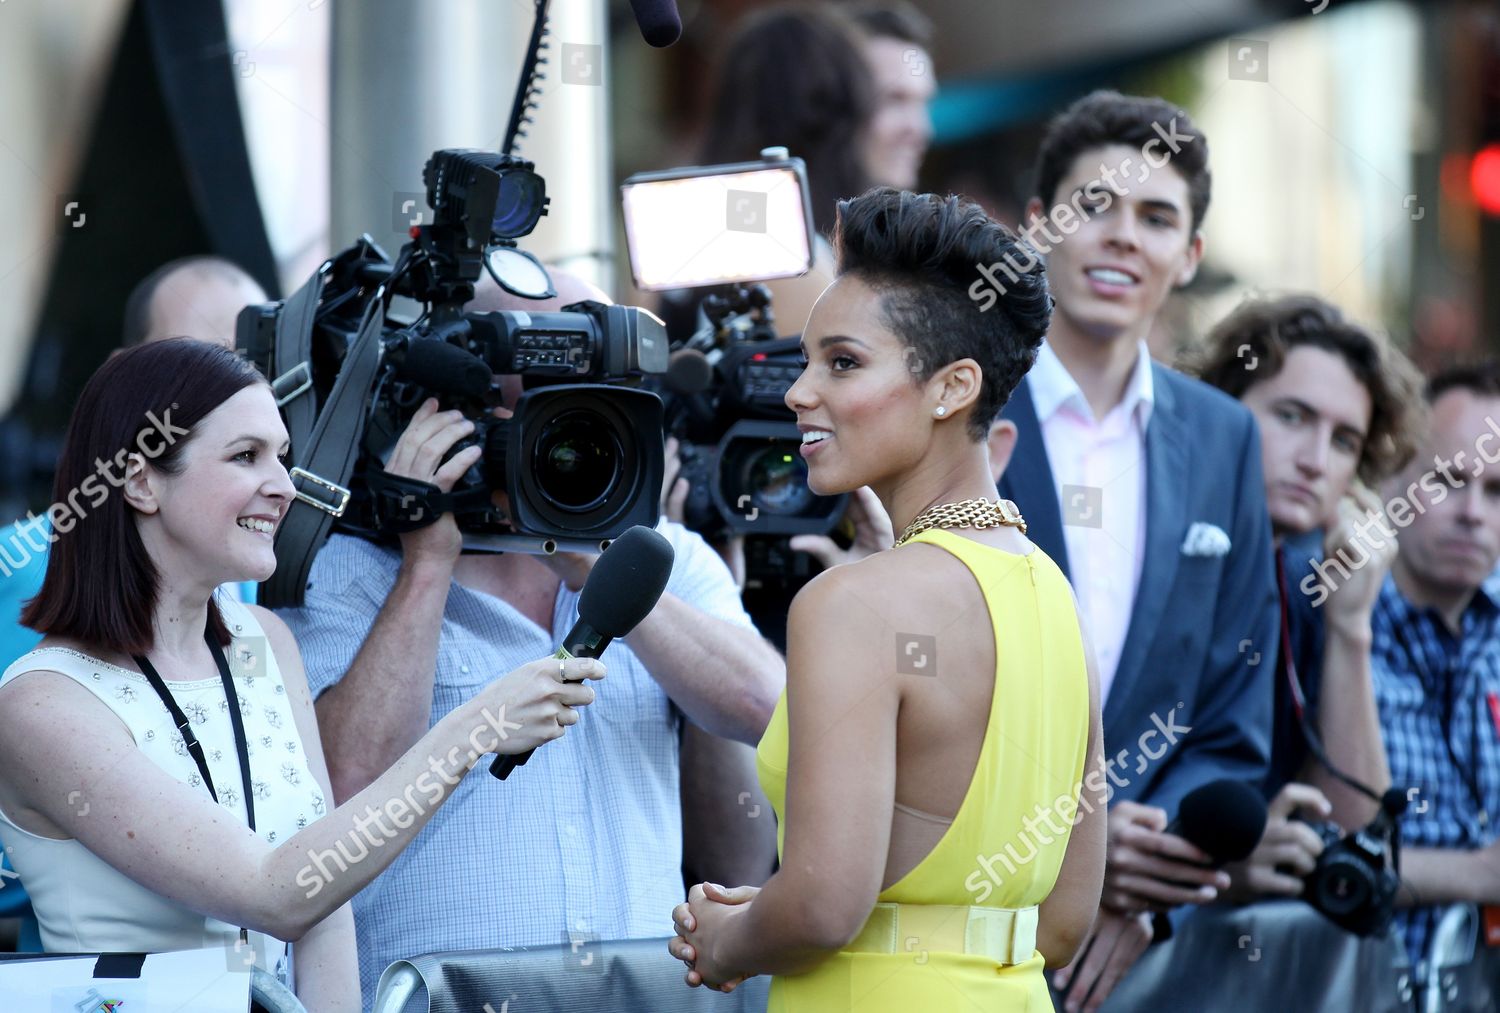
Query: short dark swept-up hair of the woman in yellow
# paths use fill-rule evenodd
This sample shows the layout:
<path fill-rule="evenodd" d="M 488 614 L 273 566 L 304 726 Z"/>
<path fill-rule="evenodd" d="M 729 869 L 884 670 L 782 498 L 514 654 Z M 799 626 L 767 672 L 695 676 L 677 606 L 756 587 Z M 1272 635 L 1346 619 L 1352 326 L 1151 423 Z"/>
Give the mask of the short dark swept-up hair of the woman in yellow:
<path fill-rule="evenodd" d="M 927 381 L 958 359 L 980 363 L 969 435 L 986 440 L 1036 362 L 1052 320 L 1040 258 L 974 201 L 890 186 L 838 201 L 834 249 L 840 278 L 854 275 L 880 293 L 886 327 L 915 351 L 914 381 Z M 1017 257 L 1028 267 L 981 308 L 974 294 L 984 284 L 980 267 Z M 986 312 L 992 306 L 998 312 Z"/>

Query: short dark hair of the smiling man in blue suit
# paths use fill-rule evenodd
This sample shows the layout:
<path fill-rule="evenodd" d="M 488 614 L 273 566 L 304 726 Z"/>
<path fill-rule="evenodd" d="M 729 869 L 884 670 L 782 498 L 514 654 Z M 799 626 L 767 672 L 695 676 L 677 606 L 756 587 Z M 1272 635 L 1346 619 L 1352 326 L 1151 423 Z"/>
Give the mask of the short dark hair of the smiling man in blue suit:
<path fill-rule="evenodd" d="M 1173 138 L 1176 150 L 1166 147 L 1167 138 Z M 1062 177 L 1072 171 L 1078 158 L 1095 149 L 1110 144 L 1144 149 L 1152 141 L 1158 152 L 1170 156 L 1167 165 L 1188 183 L 1191 236 L 1203 228 L 1214 191 L 1209 141 L 1185 110 L 1166 99 L 1090 92 L 1053 117 L 1036 152 L 1036 197 L 1052 206 Z"/>

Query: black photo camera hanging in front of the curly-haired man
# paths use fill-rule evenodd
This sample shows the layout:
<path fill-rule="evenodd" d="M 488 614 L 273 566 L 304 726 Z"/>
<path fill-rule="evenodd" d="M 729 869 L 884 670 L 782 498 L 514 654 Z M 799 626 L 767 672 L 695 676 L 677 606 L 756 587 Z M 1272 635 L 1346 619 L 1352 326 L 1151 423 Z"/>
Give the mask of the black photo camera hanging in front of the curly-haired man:
<path fill-rule="evenodd" d="M 1302 896 L 1348 932 L 1380 935 L 1390 924 L 1401 885 L 1398 825 L 1406 806 L 1401 789 L 1388 791 L 1380 813 L 1350 834 L 1330 819 L 1305 821 L 1323 839 L 1323 852 L 1302 879 Z"/>

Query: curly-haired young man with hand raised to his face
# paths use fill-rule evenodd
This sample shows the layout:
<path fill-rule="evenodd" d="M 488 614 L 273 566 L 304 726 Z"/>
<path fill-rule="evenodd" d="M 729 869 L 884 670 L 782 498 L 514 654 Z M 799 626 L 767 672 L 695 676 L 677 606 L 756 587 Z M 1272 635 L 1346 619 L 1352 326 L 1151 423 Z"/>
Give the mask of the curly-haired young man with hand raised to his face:
<path fill-rule="evenodd" d="M 1239 306 L 1210 332 L 1200 375 L 1239 398 L 1260 426 L 1284 617 L 1266 833 L 1250 858 L 1230 866 L 1230 897 L 1299 896 L 1323 845 L 1294 816 L 1356 830 L 1378 809 L 1310 741 L 1374 792 L 1390 783 L 1371 680 L 1371 614 L 1396 542 L 1371 530 L 1380 516 L 1372 488 L 1414 453 L 1419 377 L 1406 356 L 1316 296 Z M 1362 563 L 1306 594 L 1317 557 Z M 1336 705 L 1320 707 L 1323 699 Z"/>

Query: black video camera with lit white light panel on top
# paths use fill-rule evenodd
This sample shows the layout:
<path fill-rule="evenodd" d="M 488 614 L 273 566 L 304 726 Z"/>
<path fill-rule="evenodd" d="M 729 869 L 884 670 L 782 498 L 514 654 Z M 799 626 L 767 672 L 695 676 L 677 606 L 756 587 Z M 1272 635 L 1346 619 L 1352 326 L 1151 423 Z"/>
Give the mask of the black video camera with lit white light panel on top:
<path fill-rule="evenodd" d="M 636 285 L 705 293 L 705 324 L 676 342 L 658 389 L 692 488 L 684 521 L 708 539 L 826 534 L 848 503 L 807 486 L 784 402 L 802 371 L 801 342 L 777 336 L 771 293 L 747 284 L 810 267 L 806 192 L 802 161 L 786 149 L 759 162 L 642 173 L 622 186 Z"/>

